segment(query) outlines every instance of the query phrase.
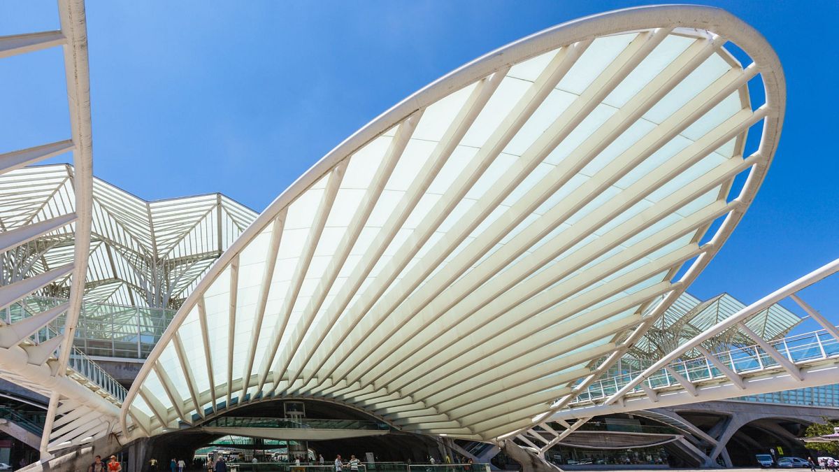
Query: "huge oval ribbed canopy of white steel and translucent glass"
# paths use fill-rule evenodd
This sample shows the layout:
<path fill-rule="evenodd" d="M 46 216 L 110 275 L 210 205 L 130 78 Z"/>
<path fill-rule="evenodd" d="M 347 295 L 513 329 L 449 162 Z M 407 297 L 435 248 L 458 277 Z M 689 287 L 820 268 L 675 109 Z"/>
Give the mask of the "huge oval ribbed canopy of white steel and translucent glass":
<path fill-rule="evenodd" d="M 752 79 L 765 103 L 750 101 Z M 257 218 L 143 365 L 123 427 L 155 435 L 289 397 L 417 433 L 529 427 L 711 260 L 783 114 L 774 52 L 716 8 L 605 13 L 485 55 L 352 135 Z"/>

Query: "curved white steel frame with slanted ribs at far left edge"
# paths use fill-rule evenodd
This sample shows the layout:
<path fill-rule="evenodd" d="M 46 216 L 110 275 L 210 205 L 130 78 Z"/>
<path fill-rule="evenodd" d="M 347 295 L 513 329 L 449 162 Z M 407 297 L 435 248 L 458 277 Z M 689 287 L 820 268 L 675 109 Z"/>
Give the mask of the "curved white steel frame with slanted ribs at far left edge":
<path fill-rule="evenodd" d="M 50 396 L 44 436 L 40 444 L 42 457 L 56 448 L 65 448 L 117 433 L 118 408 L 84 375 L 68 366 L 73 349 L 84 293 L 88 249 L 91 236 L 92 139 L 90 83 L 87 63 L 85 8 L 81 0 L 58 2 L 60 31 L 21 34 L 0 38 L 0 57 L 26 54 L 34 50 L 62 46 L 64 50 L 67 99 L 70 113 L 70 139 L 13 151 L 0 156 L 2 172 L 20 169 L 64 152 L 71 151 L 75 165 L 74 207 L 65 213 L 41 222 L 24 222 L 15 228 L 3 228 L 3 249 L 11 250 L 46 234 L 64 231 L 72 224 L 73 249 L 62 265 L 26 277 L 19 274 L 10 284 L 0 288 L 0 300 L 8 307 L 23 296 L 38 291 L 59 279 L 70 277 L 69 301 L 60 307 L 0 327 L 0 376 L 18 385 Z M 4 207 L 0 218 L 14 216 L 15 207 Z M 5 231 L 8 230 L 8 231 Z M 81 281 L 81 283 L 80 283 Z M 39 328 L 65 313 L 64 332 L 55 338 L 34 344 L 30 336 Z M 55 352 L 57 351 L 57 357 Z M 107 396 L 107 395 L 106 395 Z"/>

